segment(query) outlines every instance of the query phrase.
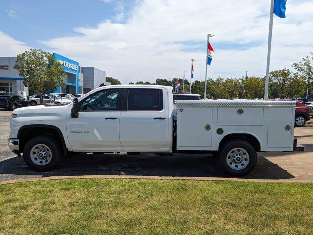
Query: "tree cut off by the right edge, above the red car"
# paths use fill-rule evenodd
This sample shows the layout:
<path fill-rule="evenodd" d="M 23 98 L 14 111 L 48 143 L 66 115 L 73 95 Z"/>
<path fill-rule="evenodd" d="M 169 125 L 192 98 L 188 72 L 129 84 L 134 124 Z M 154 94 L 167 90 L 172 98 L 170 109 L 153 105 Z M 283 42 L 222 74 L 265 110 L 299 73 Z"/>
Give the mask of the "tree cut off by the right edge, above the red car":
<path fill-rule="evenodd" d="M 304 76 L 307 85 L 307 94 L 306 98 L 308 98 L 309 89 L 313 87 L 313 51 L 310 52 L 310 56 L 302 58 L 302 61 L 298 63 L 294 63 L 292 67 L 300 72 L 302 76 Z"/>

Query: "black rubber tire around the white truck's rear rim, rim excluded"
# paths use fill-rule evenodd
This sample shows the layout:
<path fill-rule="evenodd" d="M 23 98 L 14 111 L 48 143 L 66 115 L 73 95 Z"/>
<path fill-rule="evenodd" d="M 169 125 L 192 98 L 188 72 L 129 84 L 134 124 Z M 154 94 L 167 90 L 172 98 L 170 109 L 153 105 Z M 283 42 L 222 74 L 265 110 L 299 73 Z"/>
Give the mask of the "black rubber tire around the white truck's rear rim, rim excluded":
<path fill-rule="evenodd" d="M 248 153 L 248 155 L 249 155 L 249 162 L 248 162 L 248 164 L 246 164 L 245 168 L 243 168 L 243 169 L 238 169 L 238 170 L 233 169 L 227 163 L 227 160 L 228 159 L 230 160 L 229 157 L 231 157 L 230 155 L 228 156 L 228 153 L 230 153 L 230 151 L 235 149 L 235 148 L 244 149 L 246 151 L 246 153 Z M 232 153 L 230 153 L 230 154 L 232 154 Z M 242 155 L 242 156 L 244 156 L 244 155 Z M 243 157 L 243 158 L 245 158 L 245 157 Z M 224 144 L 224 146 L 222 147 L 222 149 L 220 151 L 220 156 L 219 156 L 219 163 L 222 166 L 222 168 L 228 174 L 230 174 L 232 176 L 244 176 L 244 175 L 250 173 L 254 169 L 254 167 L 257 163 L 257 154 L 255 151 L 255 148 L 249 142 L 234 139 L 234 140 L 227 141 Z M 234 164 L 234 166 L 236 164 Z M 241 164 L 245 165 L 244 162 L 242 162 Z"/>

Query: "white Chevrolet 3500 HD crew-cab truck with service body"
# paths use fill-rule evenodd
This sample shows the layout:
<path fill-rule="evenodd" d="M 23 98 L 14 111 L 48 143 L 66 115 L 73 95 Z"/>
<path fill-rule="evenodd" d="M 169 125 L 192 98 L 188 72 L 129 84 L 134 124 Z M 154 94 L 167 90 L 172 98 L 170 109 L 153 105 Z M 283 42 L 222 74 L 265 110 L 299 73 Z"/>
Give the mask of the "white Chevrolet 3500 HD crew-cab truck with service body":
<path fill-rule="evenodd" d="M 72 152 L 211 153 L 231 175 L 249 173 L 257 152 L 303 151 L 293 137 L 295 102 L 177 101 L 156 85 L 99 87 L 71 104 L 18 108 L 11 150 L 34 170 Z"/>

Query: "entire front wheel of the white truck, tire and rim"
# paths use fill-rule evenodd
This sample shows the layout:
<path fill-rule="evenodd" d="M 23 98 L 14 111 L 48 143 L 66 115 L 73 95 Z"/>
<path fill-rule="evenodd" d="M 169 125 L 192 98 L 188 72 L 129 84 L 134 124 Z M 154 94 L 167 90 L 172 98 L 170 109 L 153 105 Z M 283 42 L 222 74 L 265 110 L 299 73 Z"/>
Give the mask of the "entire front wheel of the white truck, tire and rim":
<path fill-rule="evenodd" d="M 56 167 L 61 156 L 57 140 L 50 136 L 37 136 L 25 144 L 24 161 L 36 171 L 49 171 Z"/>

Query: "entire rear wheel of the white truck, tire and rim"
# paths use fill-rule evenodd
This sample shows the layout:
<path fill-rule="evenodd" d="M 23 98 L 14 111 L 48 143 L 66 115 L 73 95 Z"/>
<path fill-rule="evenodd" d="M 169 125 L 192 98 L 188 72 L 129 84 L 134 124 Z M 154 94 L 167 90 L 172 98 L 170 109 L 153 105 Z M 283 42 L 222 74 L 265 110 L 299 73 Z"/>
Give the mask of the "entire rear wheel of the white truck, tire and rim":
<path fill-rule="evenodd" d="M 250 173 L 257 162 L 257 154 L 247 141 L 227 141 L 220 151 L 220 165 L 232 176 L 244 176 Z"/>

